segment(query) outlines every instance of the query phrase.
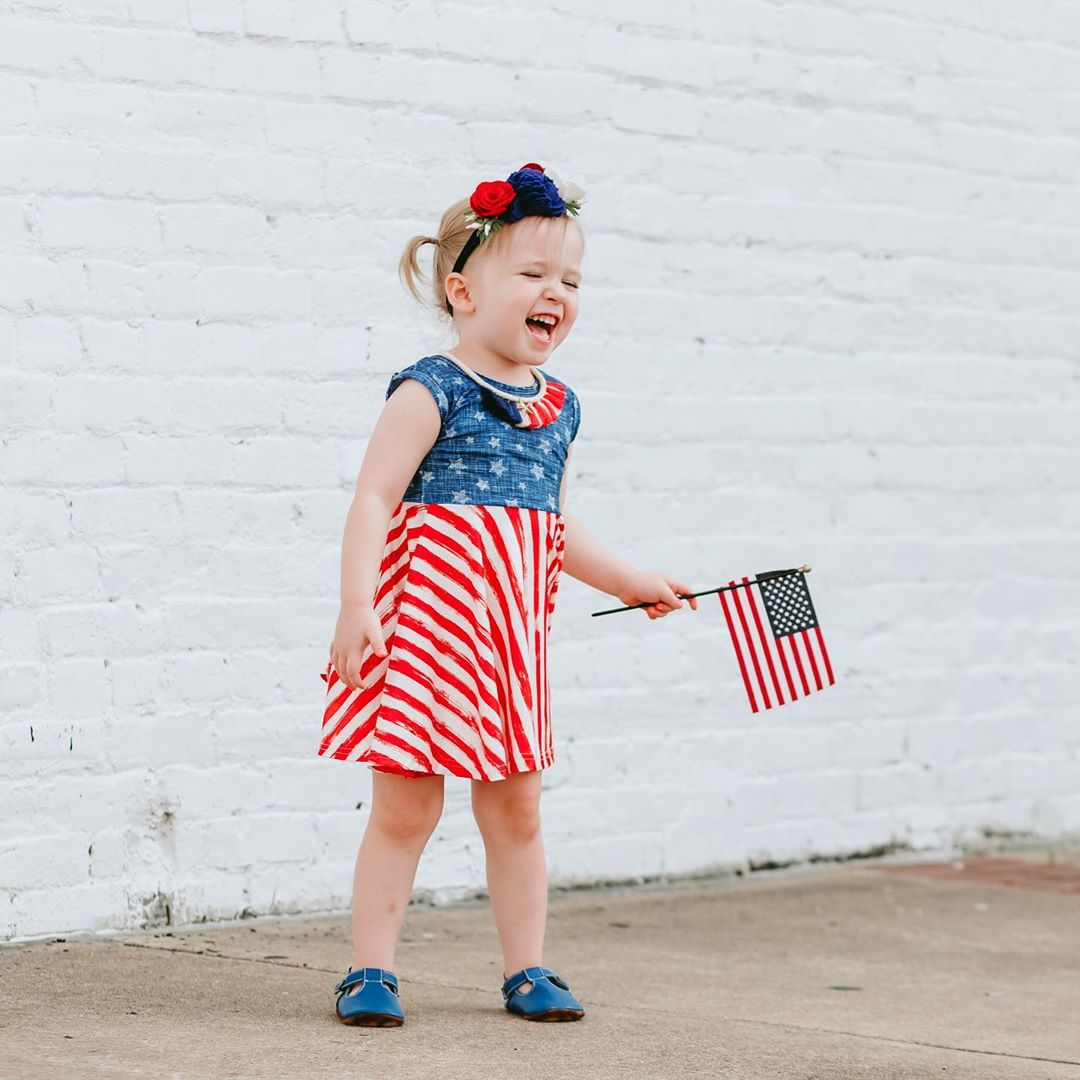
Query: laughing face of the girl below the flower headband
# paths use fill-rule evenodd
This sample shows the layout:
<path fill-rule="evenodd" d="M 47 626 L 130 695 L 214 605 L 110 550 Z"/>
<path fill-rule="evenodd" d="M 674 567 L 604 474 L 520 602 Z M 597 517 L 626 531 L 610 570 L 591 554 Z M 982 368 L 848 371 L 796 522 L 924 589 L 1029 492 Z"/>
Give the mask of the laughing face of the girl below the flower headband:
<path fill-rule="evenodd" d="M 475 267 L 465 264 L 472 302 L 457 309 L 455 322 L 462 343 L 515 364 L 542 364 L 578 318 L 584 242 L 566 218 L 530 216 L 503 229 L 500 248 Z M 554 326 L 526 321 L 538 314 L 555 315 Z"/>

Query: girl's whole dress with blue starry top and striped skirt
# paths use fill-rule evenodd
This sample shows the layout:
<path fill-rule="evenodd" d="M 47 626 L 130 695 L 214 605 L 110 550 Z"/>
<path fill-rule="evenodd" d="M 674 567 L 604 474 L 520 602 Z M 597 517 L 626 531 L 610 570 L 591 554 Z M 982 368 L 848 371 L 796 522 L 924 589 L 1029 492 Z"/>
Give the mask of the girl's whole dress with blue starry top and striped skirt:
<path fill-rule="evenodd" d="M 431 391 L 442 427 L 387 531 L 374 597 L 387 656 L 368 650 L 357 690 L 327 661 L 319 756 L 403 777 L 546 768 L 577 395 L 543 373 L 530 390 L 436 354 L 395 372 L 387 397 L 407 378 Z"/>

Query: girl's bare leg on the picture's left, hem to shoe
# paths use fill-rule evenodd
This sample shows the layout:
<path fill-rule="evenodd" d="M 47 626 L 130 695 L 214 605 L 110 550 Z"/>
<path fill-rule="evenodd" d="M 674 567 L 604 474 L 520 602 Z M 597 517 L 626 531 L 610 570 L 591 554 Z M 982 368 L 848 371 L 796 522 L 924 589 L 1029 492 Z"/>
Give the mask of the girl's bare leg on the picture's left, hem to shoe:
<path fill-rule="evenodd" d="M 442 813 L 442 775 L 372 770 L 372 813 L 352 885 L 353 969 L 394 970 L 416 868 Z"/>

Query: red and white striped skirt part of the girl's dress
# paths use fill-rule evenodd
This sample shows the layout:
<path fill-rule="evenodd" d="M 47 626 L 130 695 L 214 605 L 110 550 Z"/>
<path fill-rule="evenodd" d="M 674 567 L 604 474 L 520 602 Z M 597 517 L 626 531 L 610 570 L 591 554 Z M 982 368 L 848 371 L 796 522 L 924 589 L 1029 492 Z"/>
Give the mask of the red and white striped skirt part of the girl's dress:
<path fill-rule="evenodd" d="M 365 653 L 362 690 L 327 661 L 319 755 L 473 780 L 551 765 L 548 634 L 564 550 L 553 511 L 399 503 L 375 594 L 387 656 Z"/>

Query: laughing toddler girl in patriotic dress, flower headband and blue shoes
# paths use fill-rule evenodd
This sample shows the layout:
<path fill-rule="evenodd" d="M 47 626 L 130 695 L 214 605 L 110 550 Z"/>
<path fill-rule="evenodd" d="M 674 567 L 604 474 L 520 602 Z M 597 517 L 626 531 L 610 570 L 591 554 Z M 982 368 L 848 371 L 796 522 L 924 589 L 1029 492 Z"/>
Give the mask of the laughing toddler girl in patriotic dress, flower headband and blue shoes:
<path fill-rule="evenodd" d="M 405 1020 L 394 949 L 448 775 L 472 781 L 507 1009 L 584 1015 L 541 956 L 540 771 L 555 759 L 548 634 L 559 573 L 646 605 L 650 619 L 690 590 L 626 565 L 565 511 L 581 409 L 541 369 L 578 316 L 583 194 L 523 165 L 480 184 L 437 237 L 413 238 L 402 256 L 408 288 L 430 302 L 416 256 L 435 245 L 432 298 L 457 343 L 391 377 L 345 526 L 319 754 L 367 765 L 373 800 L 353 881 L 353 966 L 335 987 L 346 1024 Z"/>

